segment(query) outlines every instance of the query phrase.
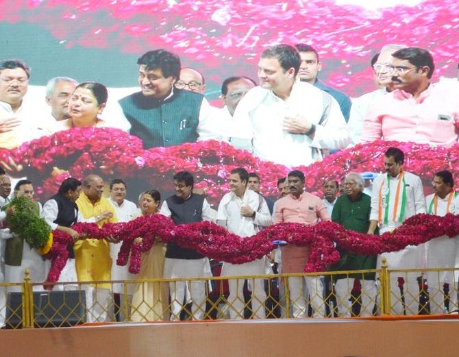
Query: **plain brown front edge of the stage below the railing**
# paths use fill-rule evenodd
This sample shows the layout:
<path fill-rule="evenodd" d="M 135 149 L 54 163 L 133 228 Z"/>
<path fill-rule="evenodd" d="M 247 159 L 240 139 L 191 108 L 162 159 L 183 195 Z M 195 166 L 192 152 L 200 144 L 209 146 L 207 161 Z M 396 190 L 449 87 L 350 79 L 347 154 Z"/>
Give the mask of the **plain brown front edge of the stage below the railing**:
<path fill-rule="evenodd" d="M 0 355 L 456 357 L 458 336 L 459 318 L 123 323 L 0 330 Z"/>

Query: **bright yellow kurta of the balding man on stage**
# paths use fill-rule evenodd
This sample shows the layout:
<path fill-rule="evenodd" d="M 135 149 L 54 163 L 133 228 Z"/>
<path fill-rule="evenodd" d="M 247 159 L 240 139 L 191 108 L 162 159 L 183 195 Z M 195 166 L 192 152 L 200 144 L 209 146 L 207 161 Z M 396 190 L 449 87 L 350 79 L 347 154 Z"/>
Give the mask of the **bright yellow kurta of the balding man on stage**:
<path fill-rule="evenodd" d="M 108 199 L 102 197 L 95 204 L 92 204 L 88 197 L 82 193 L 77 199 L 77 206 L 84 219 L 101 214 L 104 211 L 113 213 L 112 219 L 99 221 L 103 223 L 116 223 L 116 213 Z M 75 242 L 75 267 L 79 282 L 92 282 L 99 280 L 111 280 L 112 258 L 110 258 L 110 247 L 105 239 L 83 239 Z M 101 284 L 99 288 L 110 288 L 110 284 Z"/>

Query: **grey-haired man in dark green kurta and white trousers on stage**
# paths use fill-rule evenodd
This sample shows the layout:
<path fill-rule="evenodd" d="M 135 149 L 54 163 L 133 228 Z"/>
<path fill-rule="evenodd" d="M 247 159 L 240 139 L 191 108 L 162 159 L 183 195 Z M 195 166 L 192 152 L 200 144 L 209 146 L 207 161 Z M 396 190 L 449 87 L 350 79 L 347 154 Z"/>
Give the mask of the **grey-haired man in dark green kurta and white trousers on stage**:
<path fill-rule="evenodd" d="M 336 199 L 332 221 L 343 225 L 347 230 L 367 233 L 370 225 L 371 197 L 362 192 L 364 186 L 364 179 L 358 173 L 346 175 L 345 195 Z M 376 256 L 353 254 L 339 245 L 336 248 L 341 258 L 330 270 L 349 271 L 376 268 Z M 376 297 L 375 273 L 333 275 L 333 279 L 335 280 L 336 306 L 340 317 L 351 316 L 351 291 L 355 279 L 360 279 L 362 285 L 360 315 L 373 315 Z"/>

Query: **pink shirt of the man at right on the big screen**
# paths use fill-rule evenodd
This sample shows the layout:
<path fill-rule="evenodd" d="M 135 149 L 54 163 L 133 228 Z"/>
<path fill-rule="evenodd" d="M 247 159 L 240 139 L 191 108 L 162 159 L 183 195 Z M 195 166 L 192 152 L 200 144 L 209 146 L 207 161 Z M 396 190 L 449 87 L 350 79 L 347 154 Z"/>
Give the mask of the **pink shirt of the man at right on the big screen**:
<path fill-rule="evenodd" d="M 448 86 L 430 84 L 418 99 L 394 90 L 374 101 L 364 119 L 362 142 L 377 139 L 451 146 L 458 141 L 459 100 Z"/>

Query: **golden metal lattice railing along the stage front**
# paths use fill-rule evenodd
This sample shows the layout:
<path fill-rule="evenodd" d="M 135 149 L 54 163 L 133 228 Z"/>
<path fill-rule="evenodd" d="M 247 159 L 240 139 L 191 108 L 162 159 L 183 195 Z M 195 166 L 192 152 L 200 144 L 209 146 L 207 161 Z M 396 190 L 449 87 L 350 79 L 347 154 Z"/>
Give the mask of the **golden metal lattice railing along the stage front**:
<path fill-rule="evenodd" d="M 94 322 L 439 315 L 458 312 L 459 269 L 381 269 L 206 278 L 2 283 L 3 328 Z M 107 288 L 111 286 L 111 288 Z M 117 289 L 114 289 L 117 286 Z M 114 293 L 114 290 L 123 293 Z M 51 290 L 52 287 L 52 290 Z M 47 290 L 45 290 L 47 288 Z"/>

